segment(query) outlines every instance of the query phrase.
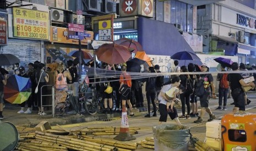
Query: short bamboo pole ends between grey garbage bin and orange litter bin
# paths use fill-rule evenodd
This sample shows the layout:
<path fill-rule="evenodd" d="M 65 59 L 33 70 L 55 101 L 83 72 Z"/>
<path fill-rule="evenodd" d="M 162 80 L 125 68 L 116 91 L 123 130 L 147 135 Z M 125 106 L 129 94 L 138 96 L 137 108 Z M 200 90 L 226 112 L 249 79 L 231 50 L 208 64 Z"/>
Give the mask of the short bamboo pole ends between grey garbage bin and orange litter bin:
<path fill-rule="evenodd" d="M 195 138 L 195 137 L 190 139 L 190 144 L 191 144 L 191 146 L 189 146 L 189 150 L 214 151 L 214 149 L 211 148 L 210 146 L 208 146 L 208 144 L 203 143 L 202 141 L 199 141 L 199 139 Z"/>

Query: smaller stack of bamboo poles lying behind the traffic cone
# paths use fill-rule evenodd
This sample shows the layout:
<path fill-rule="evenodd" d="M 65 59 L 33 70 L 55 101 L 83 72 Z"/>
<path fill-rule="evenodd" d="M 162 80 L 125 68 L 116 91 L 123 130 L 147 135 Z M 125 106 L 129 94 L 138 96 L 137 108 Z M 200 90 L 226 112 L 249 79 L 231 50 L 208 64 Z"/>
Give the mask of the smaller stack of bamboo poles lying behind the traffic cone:
<path fill-rule="evenodd" d="M 138 134 L 139 127 L 129 127 L 129 131 L 131 135 Z M 118 135 L 120 131 L 120 127 L 88 127 L 86 129 L 81 129 L 77 131 L 73 131 L 73 133 L 76 133 L 77 135 L 94 135 L 94 136 L 100 136 L 100 135 Z"/>

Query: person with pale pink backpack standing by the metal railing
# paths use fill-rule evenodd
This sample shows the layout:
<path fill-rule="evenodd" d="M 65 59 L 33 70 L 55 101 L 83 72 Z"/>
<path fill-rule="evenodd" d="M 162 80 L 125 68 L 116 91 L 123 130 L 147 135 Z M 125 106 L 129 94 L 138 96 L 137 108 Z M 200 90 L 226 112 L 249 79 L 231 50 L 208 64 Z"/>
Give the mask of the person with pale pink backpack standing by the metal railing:
<path fill-rule="evenodd" d="M 65 102 L 67 98 L 67 78 L 72 80 L 70 72 L 66 70 L 63 62 L 59 62 L 55 71 L 55 78 L 53 78 L 55 83 L 55 106 L 58 103 Z"/>

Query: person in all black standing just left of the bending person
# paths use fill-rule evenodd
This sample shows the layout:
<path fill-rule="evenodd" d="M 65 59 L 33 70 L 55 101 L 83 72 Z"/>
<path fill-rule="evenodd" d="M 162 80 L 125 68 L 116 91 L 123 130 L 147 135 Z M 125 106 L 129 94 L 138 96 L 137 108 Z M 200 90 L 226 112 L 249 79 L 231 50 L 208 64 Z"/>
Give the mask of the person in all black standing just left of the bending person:
<path fill-rule="evenodd" d="M 149 67 L 149 73 L 156 73 L 154 67 Z M 149 112 L 149 114 L 146 114 L 145 118 L 150 118 L 150 102 L 153 105 L 153 111 L 154 111 L 154 114 L 152 116 L 156 117 L 156 103 L 155 103 L 156 88 L 155 88 L 155 83 L 156 83 L 156 77 L 149 77 L 146 81 L 146 101 L 148 102 L 148 112 Z"/>

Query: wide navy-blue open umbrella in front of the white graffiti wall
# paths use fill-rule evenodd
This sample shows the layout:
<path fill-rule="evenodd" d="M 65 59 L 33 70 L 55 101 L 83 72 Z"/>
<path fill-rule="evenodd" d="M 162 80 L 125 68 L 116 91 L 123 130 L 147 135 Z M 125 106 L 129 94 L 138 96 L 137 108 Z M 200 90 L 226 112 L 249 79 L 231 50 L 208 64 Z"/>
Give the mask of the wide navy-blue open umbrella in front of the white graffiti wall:
<path fill-rule="evenodd" d="M 200 58 L 195 54 L 189 51 L 180 51 L 171 56 L 171 59 L 175 60 L 200 60 Z"/>

